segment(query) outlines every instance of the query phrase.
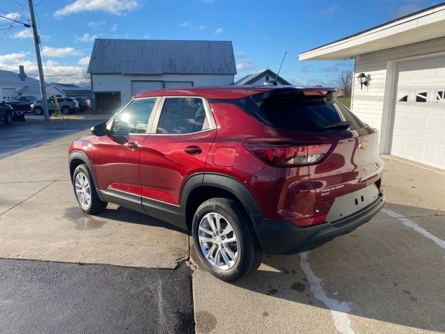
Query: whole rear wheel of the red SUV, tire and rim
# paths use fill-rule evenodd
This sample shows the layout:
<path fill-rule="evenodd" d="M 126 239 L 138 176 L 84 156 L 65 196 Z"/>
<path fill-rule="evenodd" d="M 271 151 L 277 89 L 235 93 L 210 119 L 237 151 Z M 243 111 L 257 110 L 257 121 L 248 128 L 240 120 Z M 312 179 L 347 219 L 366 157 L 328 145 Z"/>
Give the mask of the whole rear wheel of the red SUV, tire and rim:
<path fill-rule="evenodd" d="M 211 198 L 197 208 L 193 240 L 204 267 L 227 282 L 258 269 L 263 251 L 241 205 L 228 198 Z"/>

